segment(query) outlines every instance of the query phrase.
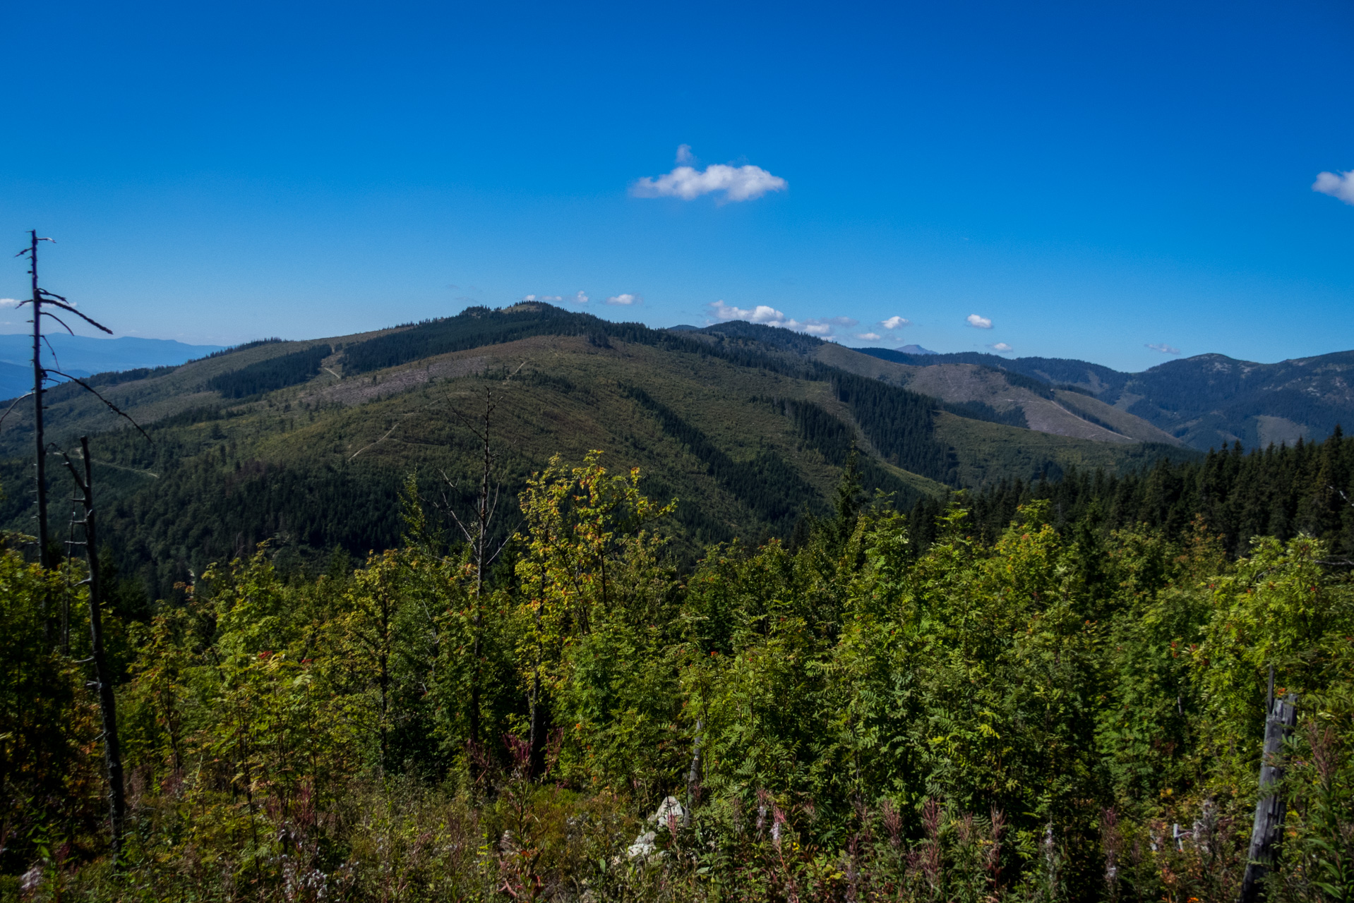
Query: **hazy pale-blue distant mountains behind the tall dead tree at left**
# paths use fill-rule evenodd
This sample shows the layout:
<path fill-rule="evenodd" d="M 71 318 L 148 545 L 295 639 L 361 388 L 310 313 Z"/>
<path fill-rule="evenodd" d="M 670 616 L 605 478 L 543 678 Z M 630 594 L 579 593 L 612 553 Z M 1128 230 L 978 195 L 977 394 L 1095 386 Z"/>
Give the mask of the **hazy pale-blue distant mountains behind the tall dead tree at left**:
<path fill-rule="evenodd" d="M 221 345 L 185 345 L 169 338 L 88 338 L 53 333 L 43 344 L 42 360 L 72 376 L 88 376 L 116 370 L 177 366 L 206 357 Z M 53 357 L 51 352 L 56 352 Z M 32 336 L 0 334 L 0 398 L 14 398 L 32 389 Z"/>

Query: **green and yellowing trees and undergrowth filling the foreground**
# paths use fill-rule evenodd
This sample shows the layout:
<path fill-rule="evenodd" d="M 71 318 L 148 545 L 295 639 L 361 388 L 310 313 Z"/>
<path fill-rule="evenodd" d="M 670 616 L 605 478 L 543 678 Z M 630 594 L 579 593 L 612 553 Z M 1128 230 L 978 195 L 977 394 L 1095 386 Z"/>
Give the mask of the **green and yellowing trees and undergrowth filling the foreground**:
<path fill-rule="evenodd" d="M 1354 899 L 1354 443 L 838 472 L 691 563 L 604 452 L 459 510 L 410 474 L 390 548 L 172 602 L 106 552 L 121 774 L 89 566 L 8 535 L 0 899 Z"/>

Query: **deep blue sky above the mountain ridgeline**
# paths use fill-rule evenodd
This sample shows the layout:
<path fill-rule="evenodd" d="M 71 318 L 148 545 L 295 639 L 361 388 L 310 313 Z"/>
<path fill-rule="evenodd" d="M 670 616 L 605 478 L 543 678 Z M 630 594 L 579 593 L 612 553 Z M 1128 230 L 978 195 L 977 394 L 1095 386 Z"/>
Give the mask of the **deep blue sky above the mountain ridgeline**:
<path fill-rule="evenodd" d="M 119 334 L 195 343 L 536 295 L 1271 361 L 1354 348 L 1351 49 L 1334 0 L 28 4 L 0 230 L 54 236 L 45 286 Z"/>

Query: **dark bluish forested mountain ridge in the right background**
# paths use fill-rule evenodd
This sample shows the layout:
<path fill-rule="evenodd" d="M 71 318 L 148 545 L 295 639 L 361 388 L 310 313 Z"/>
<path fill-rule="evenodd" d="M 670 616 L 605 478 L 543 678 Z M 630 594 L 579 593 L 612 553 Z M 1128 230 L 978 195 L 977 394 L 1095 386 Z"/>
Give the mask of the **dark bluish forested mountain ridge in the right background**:
<path fill-rule="evenodd" d="M 1292 444 L 1300 436 L 1319 440 L 1338 424 L 1354 422 L 1354 352 L 1277 364 L 1198 355 L 1124 374 L 1085 360 L 861 351 L 904 366 L 972 364 L 1030 376 L 1064 391 L 1071 387 L 1201 451 L 1236 441 L 1263 448 Z"/>

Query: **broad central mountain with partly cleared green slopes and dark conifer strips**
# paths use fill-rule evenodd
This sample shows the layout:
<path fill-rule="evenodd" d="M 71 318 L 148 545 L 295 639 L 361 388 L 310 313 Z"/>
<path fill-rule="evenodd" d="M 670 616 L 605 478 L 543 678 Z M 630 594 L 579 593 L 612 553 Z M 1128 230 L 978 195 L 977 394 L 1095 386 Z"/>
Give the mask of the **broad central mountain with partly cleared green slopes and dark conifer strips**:
<path fill-rule="evenodd" d="M 891 367 L 747 324 L 654 330 L 550 305 L 478 307 L 100 374 L 91 384 L 153 443 L 74 386 L 49 394 L 47 436 L 64 448 L 93 436 L 108 542 L 154 596 L 269 537 L 302 558 L 393 547 L 393 498 L 409 472 L 448 504 L 466 501 L 478 452 L 463 418 L 482 414 L 486 393 L 506 497 L 555 452 L 605 449 L 613 466 L 654 474 L 657 495 L 680 500 L 688 559 L 711 542 L 788 536 L 806 510 L 826 510 L 853 444 L 868 489 L 903 509 L 960 486 L 1190 455 L 1067 413 L 1034 380 L 992 389 L 964 375 L 982 391 L 941 401 L 865 364 Z M 1025 429 L 1034 402 L 1108 441 Z M 0 523 L 16 529 L 31 523 L 28 417 L 16 408 L 0 432 Z"/>

